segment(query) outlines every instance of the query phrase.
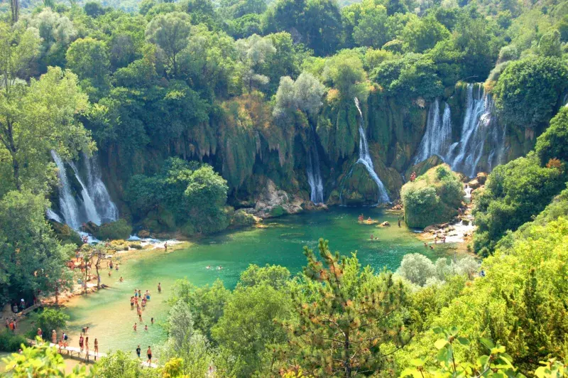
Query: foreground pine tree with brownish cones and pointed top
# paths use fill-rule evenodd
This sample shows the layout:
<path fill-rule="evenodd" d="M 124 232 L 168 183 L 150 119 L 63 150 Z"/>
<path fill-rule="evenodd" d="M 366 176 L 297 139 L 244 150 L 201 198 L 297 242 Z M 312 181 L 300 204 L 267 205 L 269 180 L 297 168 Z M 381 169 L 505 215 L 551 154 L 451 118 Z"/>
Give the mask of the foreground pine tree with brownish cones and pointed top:
<path fill-rule="evenodd" d="M 293 292 L 297 321 L 284 323 L 290 338 L 285 358 L 315 377 L 381 371 L 387 355 L 409 339 L 400 321 L 402 283 L 388 272 L 361 270 L 355 255 L 332 254 L 327 240 L 320 239 L 318 249 L 322 261 L 304 247 L 306 281 Z"/>

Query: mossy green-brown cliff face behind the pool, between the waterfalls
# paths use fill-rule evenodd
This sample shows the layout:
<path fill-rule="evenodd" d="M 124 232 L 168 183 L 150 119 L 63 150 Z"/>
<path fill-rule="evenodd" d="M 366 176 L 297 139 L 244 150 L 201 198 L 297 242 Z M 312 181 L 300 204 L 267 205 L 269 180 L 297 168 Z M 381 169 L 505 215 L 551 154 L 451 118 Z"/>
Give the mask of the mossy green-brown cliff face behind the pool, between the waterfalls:
<path fill-rule="evenodd" d="M 461 135 L 466 88 L 465 83 L 448 87 L 441 99 L 452 109 L 454 141 Z M 481 88 L 475 85 L 474 90 Z M 404 181 L 402 175 L 408 176 L 412 169 L 431 101 L 387 97 L 378 87 L 361 101 L 373 165 L 391 200 L 398 198 Z M 325 200 L 337 204 L 341 197 L 352 205 L 377 202 L 376 183 L 363 166 L 353 166 L 359 157 L 361 120 L 353 100 L 324 101 L 320 112 L 313 117 L 297 111 L 285 119 L 275 119 L 270 103 L 258 93 L 214 104 L 213 109 L 209 121 L 187 127 L 187 131 L 167 144 L 149 141 L 146 148 L 138 149 L 104 146 L 102 166 L 108 167 L 104 170 L 104 180 L 113 198 L 121 198 L 131 175 L 153 174 L 166 158 L 180 156 L 207 162 L 221 173 L 229 184 L 229 203 L 236 207 L 253 205 L 266 179 L 278 189 L 309 200 L 306 171 L 308 152 L 315 139 Z M 506 161 L 523 155 L 534 139 L 524 129 L 522 132 L 508 129 Z M 488 151 L 484 155 L 486 158 Z M 434 160 L 419 167 L 420 173 L 441 162 L 438 158 Z M 124 204 L 120 210 L 121 214 L 128 214 Z"/>

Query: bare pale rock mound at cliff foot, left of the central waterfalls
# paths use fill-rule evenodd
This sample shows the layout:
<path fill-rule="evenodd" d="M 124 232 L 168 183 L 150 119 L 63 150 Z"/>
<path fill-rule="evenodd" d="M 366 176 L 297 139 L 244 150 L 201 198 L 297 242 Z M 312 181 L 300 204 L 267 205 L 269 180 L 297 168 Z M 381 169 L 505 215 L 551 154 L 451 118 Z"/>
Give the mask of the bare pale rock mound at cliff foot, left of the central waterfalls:
<path fill-rule="evenodd" d="M 266 186 L 255 198 L 253 208 L 246 209 L 249 214 L 263 219 L 280 217 L 285 214 L 302 212 L 302 198 L 290 195 L 284 190 L 276 188 L 272 180 L 266 180 Z"/>

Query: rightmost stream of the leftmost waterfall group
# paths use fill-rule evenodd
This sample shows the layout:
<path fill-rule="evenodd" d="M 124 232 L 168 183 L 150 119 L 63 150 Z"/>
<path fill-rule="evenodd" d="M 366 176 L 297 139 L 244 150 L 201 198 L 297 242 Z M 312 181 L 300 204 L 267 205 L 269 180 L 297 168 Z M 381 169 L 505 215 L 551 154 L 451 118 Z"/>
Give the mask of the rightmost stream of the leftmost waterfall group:
<path fill-rule="evenodd" d="M 97 163 L 97 157 L 88 158 L 83 156 L 85 170 L 87 171 L 87 191 L 90 193 L 97 209 L 101 222 L 114 222 L 119 219 L 119 210 L 111 200 L 107 186 L 101 178 L 101 170 Z"/>

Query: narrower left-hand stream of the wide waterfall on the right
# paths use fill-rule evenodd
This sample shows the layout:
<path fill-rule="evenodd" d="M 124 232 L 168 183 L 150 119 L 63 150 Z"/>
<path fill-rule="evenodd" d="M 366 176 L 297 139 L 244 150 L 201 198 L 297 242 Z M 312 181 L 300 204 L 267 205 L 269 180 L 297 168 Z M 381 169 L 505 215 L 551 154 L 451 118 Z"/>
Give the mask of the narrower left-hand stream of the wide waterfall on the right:
<path fill-rule="evenodd" d="M 426 120 L 426 132 L 420 141 L 414 163 L 425 161 L 432 155 L 444 157 L 452 144 L 452 112 L 444 102 L 444 112 L 440 116 L 439 99 L 430 105 Z"/>

